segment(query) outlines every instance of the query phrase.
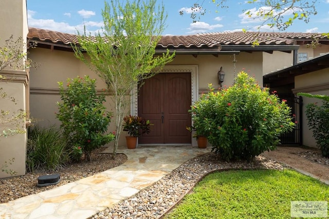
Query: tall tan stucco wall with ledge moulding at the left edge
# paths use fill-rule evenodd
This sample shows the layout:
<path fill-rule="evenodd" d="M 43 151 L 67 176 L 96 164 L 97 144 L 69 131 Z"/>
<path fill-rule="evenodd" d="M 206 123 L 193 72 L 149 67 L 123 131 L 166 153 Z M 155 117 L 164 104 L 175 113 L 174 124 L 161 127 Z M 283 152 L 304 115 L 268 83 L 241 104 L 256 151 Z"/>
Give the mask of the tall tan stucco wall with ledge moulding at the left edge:
<path fill-rule="evenodd" d="M 21 46 L 22 52 L 26 52 L 26 36 L 28 33 L 27 24 L 27 9 L 26 0 L 5 0 L 1 2 L 0 7 L 0 46 L 3 46 L 5 40 L 9 39 L 13 35 L 13 41 L 22 38 L 23 45 Z M 24 60 L 21 60 L 21 65 L 24 64 Z M 26 108 L 26 86 L 27 73 L 19 70 L 7 68 L 11 72 L 0 72 L 2 75 L 8 75 L 7 78 L 13 77 L 10 83 L 0 82 L 0 86 L 4 92 L 16 99 L 16 104 L 6 103 L 6 100 L 0 99 L 0 109 L 10 112 L 16 112 L 19 109 L 28 111 Z M 7 74 L 8 73 L 8 74 Z M 25 121 L 23 122 L 25 125 Z M 3 127 L 1 127 L 1 131 Z M 8 167 L 16 172 L 15 175 L 25 174 L 25 157 L 26 157 L 26 135 L 14 135 L 6 139 L 3 137 L 0 139 L 0 166 L 9 158 L 15 158 L 13 165 Z M 0 178 L 7 177 L 8 174 L 0 171 Z"/>

